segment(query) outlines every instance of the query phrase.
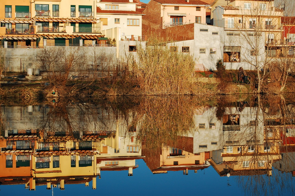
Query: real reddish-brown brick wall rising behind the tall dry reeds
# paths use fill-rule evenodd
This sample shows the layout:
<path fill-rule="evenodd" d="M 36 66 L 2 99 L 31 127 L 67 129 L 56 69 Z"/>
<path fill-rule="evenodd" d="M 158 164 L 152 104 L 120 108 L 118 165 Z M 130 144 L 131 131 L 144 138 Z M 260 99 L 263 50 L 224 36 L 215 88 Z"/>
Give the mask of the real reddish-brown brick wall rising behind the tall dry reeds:
<path fill-rule="evenodd" d="M 142 35 L 153 36 L 169 41 L 183 41 L 194 39 L 194 24 L 186 24 L 163 29 L 163 17 L 161 17 L 161 4 L 150 0 L 142 11 Z"/>

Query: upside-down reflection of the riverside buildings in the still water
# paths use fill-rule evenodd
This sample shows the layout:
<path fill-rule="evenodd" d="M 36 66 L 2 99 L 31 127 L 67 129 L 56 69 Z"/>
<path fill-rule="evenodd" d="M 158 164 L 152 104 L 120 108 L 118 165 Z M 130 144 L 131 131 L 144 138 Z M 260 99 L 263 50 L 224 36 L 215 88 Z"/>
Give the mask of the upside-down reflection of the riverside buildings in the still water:
<path fill-rule="evenodd" d="M 90 118 L 93 113 L 83 107 L 66 107 L 74 125 L 68 131 L 69 125 L 61 127 L 63 123 L 47 118 L 52 106 L 2 106 L 0 184 L 63 190 L 67 184 L 89 186 L 92 181 L 96 189 L 97 177 L 107 175 L 104 171 L 126 170 L 132 176 L 137 159 L 153 174 L 188 175 L 211 165 L 220 176 L 270 177 L 273 167 L 295 176 L 294 120 L 284 120 L 282 111 L 272 113 L 270 107 L 237 102 L 235 107 L 192 108 L 193 131 L 155 148 L 138 137 L 137 126 L 128 125 L 126 116 L 90 106 L 99 111 Z M 132 115 L 127 119 L 132 121 Z"/>

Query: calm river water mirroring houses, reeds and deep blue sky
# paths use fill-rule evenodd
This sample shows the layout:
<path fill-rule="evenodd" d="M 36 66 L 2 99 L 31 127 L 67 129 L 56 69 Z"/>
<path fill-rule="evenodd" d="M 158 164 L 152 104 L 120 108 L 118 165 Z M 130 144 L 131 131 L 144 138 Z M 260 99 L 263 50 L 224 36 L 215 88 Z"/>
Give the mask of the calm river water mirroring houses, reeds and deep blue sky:
<path fill-rule="evenodd" d="M 294 195 L 293 95 L 4 103 L 1 195 Z"/>

